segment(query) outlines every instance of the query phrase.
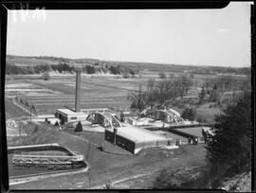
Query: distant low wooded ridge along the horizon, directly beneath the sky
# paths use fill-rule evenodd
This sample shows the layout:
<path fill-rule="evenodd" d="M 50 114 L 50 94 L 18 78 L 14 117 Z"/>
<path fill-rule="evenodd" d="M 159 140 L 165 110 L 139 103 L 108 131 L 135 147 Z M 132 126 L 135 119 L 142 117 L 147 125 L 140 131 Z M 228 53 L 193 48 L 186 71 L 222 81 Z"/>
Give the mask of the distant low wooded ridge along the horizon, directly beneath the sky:
<path fill-rule="evenodd" d="M 72 60 L 72 59 L 66 59 L 62 57 L 48 57 L 48 56 L 39 56 L 39 57 L 24 57 L 24 56 L 13 56 L 13 55 L 7 56 L 7 61 L 19 60 L 19 59 L 49 60 L 49 61 L 59 61 L 60 63 L 69 63 L 70 61 L 78 64 L 88 63 L 87 65 L 92 65 L 97 67 L 95 68 L 96 72 L 99 70 L 98 66 L 101 67 L 100 69 L 102 72 L 108 70 L 108 69 L 104 69 L 104 68 L 107 68 L 107 66 L 109 66 L 109 68 L 113 66 L 111 67 L 111 69 L 109 69 L 110 73 L 113 72 L 111 74 L 127 74 L 127 71 L 129 71 L 129 69 L 136 69 L 136 70 L 132 70 L 133 72 L 131 71 L 132 72 L 131 75 L 133 75 L 134 73 L 137 74 L 138 71 L 141 71 L 144 69 L 148 69 L 150 71 L 162 71 L 162 72 L 167 72 L 167 71 L 168 72 L 169 71 L 186 72 L 187 71 L 189 73 L 202 74 L 202 75 L 237 74 L 237 75 L 250 76 L 251 74 L 251 69 L 249 67 L 196 66 L 196 65 L 183 65 L 183 64 L 174 64 L 174 63 L 164 64 L 164 63 L 135 62 L 135 61 L 100 61 L 96 59 Z M 58 69 L 60 70 L 61 68 L 62 67 L 60 66 L 58 67 Z M 65 67 L 65 68 L 68 68 L 68 67 Z M 72 68 L 72 65 L 70 66 L 70 69 L 69 69 L 70 72 L 73 71 L 71 68 Z M 94 74 L 93 73 L 94 70 L 92 68 L 91 69 L 89 68 L 91 67 L 87 67 L 88 71 L 84 70 L 83 72 L 84 73 L 87 72 L 88 74 Z M 23 71 L 24 70 L 22 70 L 22 72 Z"/>

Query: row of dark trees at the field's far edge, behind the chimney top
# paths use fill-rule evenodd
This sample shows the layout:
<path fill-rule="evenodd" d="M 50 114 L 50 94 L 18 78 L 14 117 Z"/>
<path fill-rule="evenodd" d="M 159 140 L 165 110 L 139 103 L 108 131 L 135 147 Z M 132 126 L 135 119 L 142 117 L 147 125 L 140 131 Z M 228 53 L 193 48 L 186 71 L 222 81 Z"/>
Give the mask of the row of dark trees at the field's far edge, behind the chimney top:
<path fill-rule="evenodd" d="M 91 64 L 86 64 L 81 67 L 82 73 L 85 74 L 96 74 L 96 73 L 110 73 L 113 75 L 127 75 L 135 76 L 138 74 L 137 70 L 133 70 L 128 67 L 120 67 L 119 65 L 104 65 L 104 66 L 94 66 Z M 42 74 L 45 72 L 57 72 L 57 73 L 75 73 L 75 66 L 67 64 L 65 62 L 60 62 L 58 64 L 37 64 L 29 66 L 18 66 L 13 63 L 7 62 L 6 64 L 6 74 L 7 75 L 33 75 Z"/>

